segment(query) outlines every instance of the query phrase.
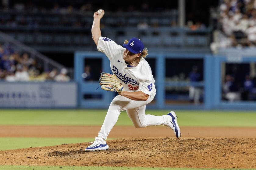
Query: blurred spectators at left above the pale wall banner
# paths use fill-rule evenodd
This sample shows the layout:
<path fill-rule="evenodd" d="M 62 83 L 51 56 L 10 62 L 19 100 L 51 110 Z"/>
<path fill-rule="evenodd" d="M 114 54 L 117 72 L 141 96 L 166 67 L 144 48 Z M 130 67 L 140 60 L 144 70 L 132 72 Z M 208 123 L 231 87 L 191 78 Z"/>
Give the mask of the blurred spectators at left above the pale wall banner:
<path fill-rule="evenodd" d="M 28 53 L 17 53 L 10 44 L 0 44 L 0 80 L 14 81 L 69 81 L 67 70 L 43 70 L 37 60 L 30 58 Z"/>

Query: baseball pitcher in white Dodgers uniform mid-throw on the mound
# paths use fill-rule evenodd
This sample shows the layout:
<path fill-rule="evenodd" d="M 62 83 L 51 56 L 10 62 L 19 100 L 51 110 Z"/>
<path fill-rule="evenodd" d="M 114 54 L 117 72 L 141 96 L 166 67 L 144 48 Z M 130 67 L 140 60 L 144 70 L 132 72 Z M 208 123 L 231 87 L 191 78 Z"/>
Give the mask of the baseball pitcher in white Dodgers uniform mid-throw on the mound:
<path fill-rule="evenodd" d="M 99 11 L 93 15 L 92 38 L 98 51 L 110 60 L 112 70 L 112 74 L 101 73 L 100 85 L 102 89 L 118 92 L 119 95 L 112 100 L 98 137 L 95 137 L 95 141 L 85 151 L 108 149 L 105 140 L 123 110 L 126 110 L 136 128 L 165 125 L 180 138 L 180 127 L 174 111 L 162 116 L 145 114 L 146 104 L 150 103 L 156 94 L 151 68 L 144 59 L 148 50 L 137 38 L 132 38 L 129 42 L 126 40 L 123 46 L 120 46 L 113 40 L 102 37 L 100 20 L 104 10 Z"/>

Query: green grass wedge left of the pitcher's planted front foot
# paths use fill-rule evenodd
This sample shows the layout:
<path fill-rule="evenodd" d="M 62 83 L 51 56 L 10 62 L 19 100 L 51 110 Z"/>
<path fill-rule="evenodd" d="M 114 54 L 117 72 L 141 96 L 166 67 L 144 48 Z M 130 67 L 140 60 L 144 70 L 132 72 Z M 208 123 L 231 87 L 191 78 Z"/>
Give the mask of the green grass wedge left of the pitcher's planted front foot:
<path fill-rule="evenodd" d="M 0 151 L 89 141 L 94 138 L 0 138 Z"/>

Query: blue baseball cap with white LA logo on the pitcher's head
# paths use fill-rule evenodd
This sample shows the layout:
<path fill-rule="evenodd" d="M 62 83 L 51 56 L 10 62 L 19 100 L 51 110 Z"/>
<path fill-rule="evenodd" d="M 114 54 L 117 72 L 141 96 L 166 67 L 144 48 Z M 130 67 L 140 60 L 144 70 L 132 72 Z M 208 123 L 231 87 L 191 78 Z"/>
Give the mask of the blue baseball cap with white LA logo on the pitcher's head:
<path fill-rule="evenodd" d="M 123 44 L 123 47 L 128 49 L 134 54 L 141 53 L 144 49 L 144 45 L 140 39 L 132 38 L 127 44 Z"/>

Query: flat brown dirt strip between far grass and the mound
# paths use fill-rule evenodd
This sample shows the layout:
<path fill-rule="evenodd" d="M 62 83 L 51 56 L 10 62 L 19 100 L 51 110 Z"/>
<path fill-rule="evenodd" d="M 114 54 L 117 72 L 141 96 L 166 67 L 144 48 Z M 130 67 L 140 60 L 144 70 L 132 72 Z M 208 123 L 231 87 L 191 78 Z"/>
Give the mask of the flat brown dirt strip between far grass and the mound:
<path fill-rule="evenodd" d="M 94 138 L 100 126 L 0 126 L 0 137 Z M 181 127 L 182 137 L 256 138 L 256 127 Z M 172 137 L 164 126 L 114 126 L 108 138 Z"/>

